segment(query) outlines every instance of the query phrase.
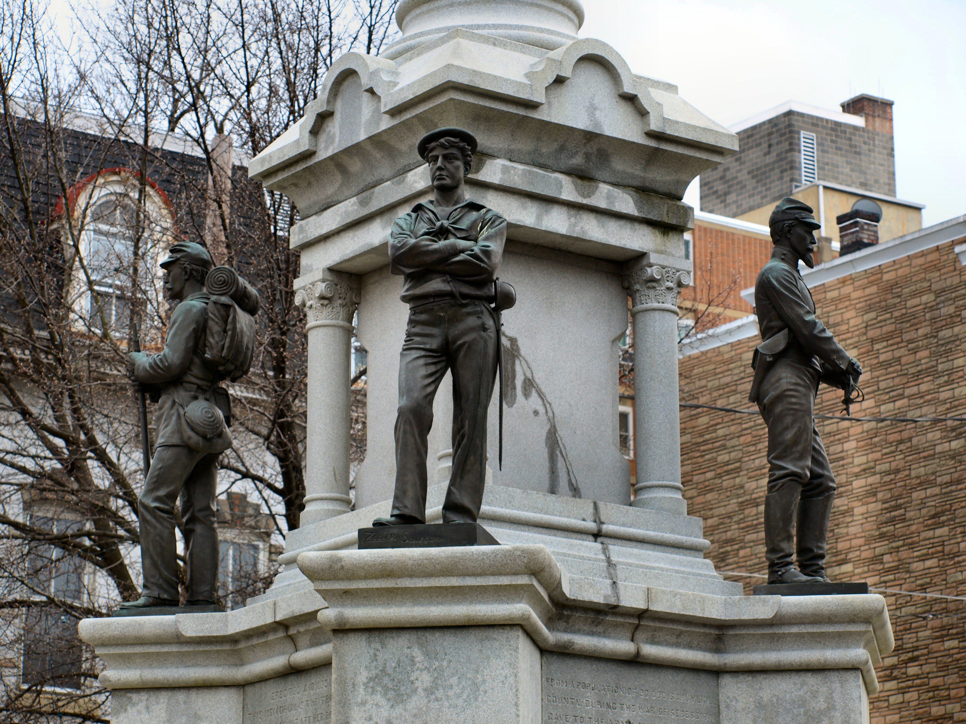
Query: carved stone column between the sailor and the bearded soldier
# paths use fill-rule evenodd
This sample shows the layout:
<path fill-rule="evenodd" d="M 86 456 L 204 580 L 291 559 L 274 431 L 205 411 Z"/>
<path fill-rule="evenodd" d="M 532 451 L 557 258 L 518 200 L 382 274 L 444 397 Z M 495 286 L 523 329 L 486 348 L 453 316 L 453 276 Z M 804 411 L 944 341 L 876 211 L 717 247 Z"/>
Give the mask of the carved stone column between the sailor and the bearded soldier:
<path fill-rule="evenodd" d="M 691 284 L 691 264 L 644 254 L 624 267 L 634 318 L 634 449 L 631 505 L 686 515 L 681 495 L 677 397 L 677 294 Z"/>

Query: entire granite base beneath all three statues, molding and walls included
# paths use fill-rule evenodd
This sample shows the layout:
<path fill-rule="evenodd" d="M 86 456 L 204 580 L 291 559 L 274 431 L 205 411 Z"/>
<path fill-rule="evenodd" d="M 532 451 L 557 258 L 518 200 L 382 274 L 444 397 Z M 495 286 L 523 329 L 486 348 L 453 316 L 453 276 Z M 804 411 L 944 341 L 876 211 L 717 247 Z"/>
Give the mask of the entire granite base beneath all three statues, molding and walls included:
<path fill-rule="evenodd" d="M 112 721 L 866 724 L 894 645 L 875 594 L 673 591 L 572 575 L 543 545 L 318 551 L 298 567 L 314 591 L 80 622 Z"/>

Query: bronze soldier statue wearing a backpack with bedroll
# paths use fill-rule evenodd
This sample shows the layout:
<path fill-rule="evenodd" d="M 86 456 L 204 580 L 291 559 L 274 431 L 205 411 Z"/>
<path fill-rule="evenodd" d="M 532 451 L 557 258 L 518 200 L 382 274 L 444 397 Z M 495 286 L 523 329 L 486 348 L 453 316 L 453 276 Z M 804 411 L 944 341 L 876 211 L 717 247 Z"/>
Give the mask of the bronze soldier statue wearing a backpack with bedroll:
<path fill-rule="evenodd" d="M 138 498 L 142 596 L 122 603 L 118 614 L 143 615 L 178 606 L 175 502 L 181 497 L 185 530 L 185 605 L 215 605 L 218 535 L 215 494 L 218 456 L 232 446 L 231 405 L 218 383 L 251 367 L 254 315 L 259 298 L 227 266 L 213 267 L 201 244 L 174 244 L 161 262 L 164 289 L 178 301 L 158 354 L 128 355 L 131 375 L 157 403 L 156 446 Z M 152 609 L 155 609 L 154 611 Z"/>

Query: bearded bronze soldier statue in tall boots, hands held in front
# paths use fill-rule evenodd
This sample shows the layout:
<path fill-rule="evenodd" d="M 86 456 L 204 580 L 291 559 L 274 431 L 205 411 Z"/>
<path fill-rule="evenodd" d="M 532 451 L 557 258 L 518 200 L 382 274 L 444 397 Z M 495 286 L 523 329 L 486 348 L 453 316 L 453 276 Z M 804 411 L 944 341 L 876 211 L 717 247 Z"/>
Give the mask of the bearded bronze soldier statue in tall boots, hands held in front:
<path fill-rule="evenodd" d="M 799 260 L 815 265 L 813 232 L 820 225 L 811 211 L 792 198 L 775 207 L 769 219 L 775 249 L 754 285 L 763 342 L 753 356 L 749 401 L 768 426 L 765 558 L 774 584 L 828 582 L 825 551 L 836 481 L 815 426 L 815 394 L 820 382 L 848 390 L 862 374 L 815 318 L 815 302 L 798 271 Z"/>

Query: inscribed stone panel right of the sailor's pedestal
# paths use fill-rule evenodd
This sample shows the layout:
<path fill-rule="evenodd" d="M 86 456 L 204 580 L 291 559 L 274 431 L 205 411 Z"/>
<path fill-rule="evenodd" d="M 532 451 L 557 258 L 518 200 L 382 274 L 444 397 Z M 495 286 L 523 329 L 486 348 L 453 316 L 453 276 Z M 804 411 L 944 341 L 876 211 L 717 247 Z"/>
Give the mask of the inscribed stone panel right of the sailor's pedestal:
<path fill-rule="evenodd" d="M 713 671 L 543 653 L 543 717 L 562 724 L 719 723 Z"/>

